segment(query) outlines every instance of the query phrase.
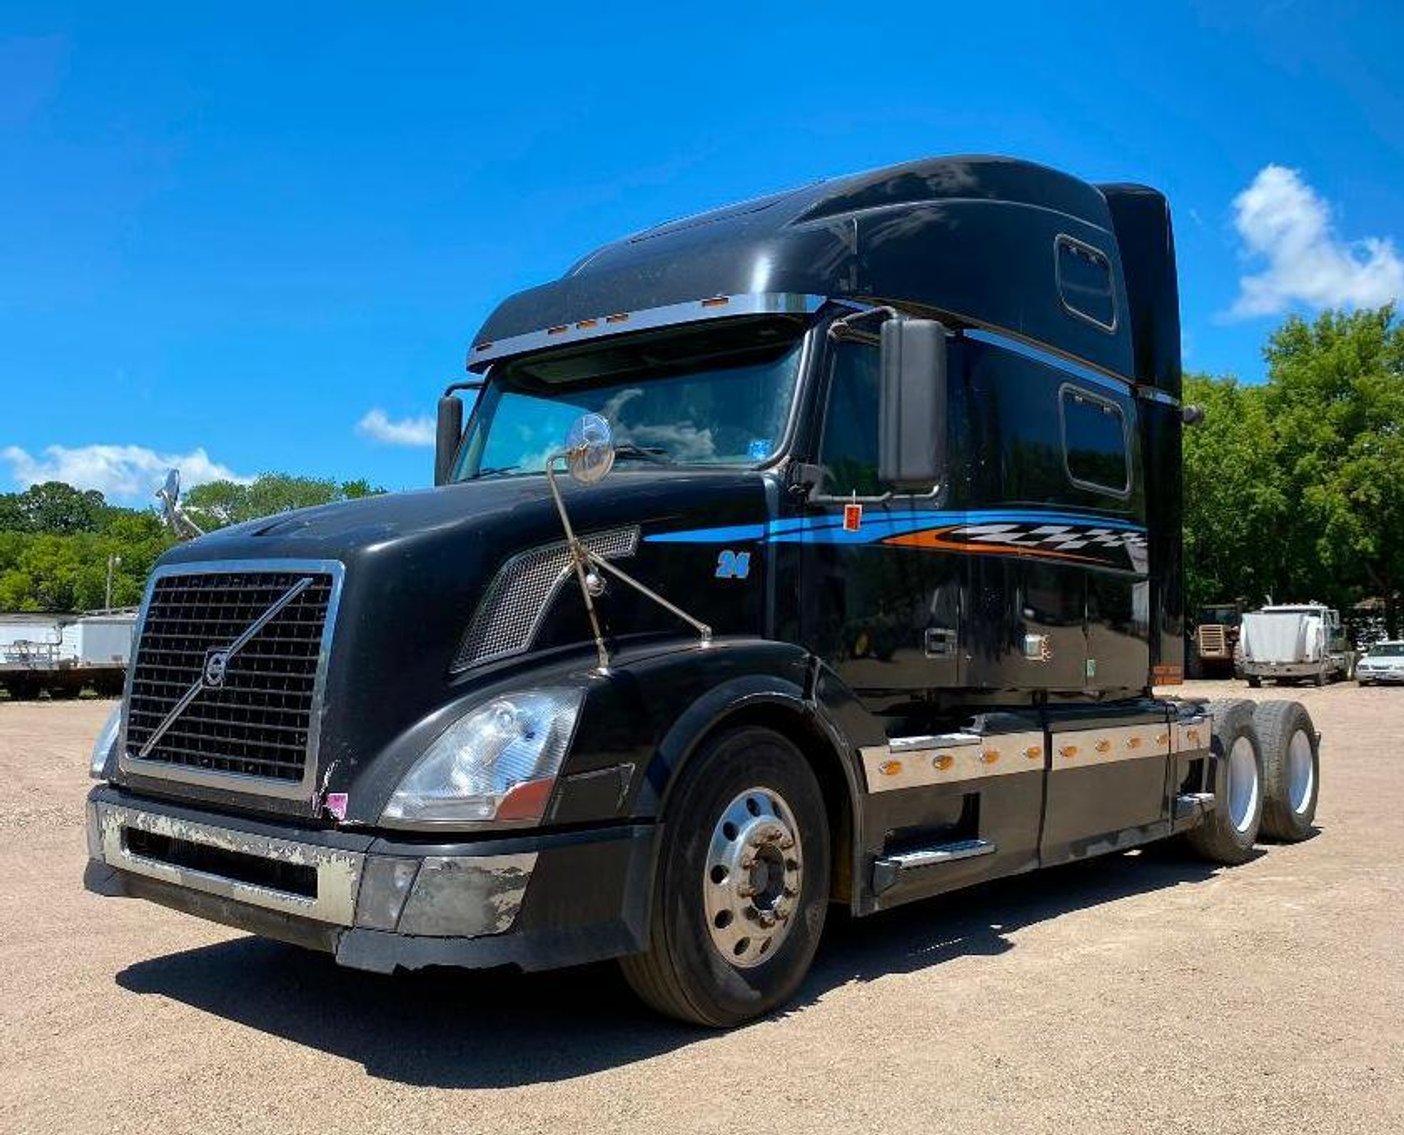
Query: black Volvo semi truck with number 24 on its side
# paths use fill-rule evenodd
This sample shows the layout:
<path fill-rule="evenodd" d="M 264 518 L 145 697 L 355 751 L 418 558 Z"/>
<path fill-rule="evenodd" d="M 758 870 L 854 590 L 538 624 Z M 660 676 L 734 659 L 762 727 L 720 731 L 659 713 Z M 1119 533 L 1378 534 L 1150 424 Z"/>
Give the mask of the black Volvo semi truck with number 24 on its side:
<path fill-rule="evenodd" d="M 87 886 L 388 972 L 619 958 L 709 1025 L 854 916 L 1311 832 L 1293 702 L 1177 701 L 1165 199 L 920 160 L 507 299 L 437 487 L 157 566 Z M 462 389 L 480 388 L 462 420 Z"/>

